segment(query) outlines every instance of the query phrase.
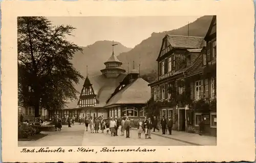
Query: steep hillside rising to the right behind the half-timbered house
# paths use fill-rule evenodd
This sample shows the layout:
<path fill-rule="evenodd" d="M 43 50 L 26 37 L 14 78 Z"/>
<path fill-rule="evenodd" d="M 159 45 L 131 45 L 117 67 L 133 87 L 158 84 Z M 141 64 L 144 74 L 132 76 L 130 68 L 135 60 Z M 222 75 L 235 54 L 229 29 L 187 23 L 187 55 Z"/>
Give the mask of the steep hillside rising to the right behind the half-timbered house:
<path fill-rule="evenodd" d="M 210 25 L 212 16 L 203 16 L 196 21 L 189 24 L 189 36 L 201 36 L 204 37 L 208 27 Z M 117 58 L 123 62 L 123 67 L 127 67 L 127 63 L 130 65 L 135 61 L 141 64 L 141 74 L 150 73 L 153 69 L 157 70 L 157 57 L 161 48 L 162 38 L 166 35 L 187 35 L 187 25 L 176 30 L 152 33 L 151 37 L 143 40 L 140 44 L 136 45 L 134 49 L 129 52 L 121 53 Z M 131 66 L 130 66 L 131 67 Z M 132 68 L 132 67 L 131 67 Z"/>

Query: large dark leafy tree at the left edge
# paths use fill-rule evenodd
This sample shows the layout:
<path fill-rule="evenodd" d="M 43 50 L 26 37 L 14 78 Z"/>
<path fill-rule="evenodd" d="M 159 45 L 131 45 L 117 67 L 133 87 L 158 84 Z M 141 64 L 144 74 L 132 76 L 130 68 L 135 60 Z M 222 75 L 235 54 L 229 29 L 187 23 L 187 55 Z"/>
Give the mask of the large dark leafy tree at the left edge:
<path fill-rule="evenodd" d="M 59 109 L 67 100 L 77 99 L 82 75 L 70 60 L 79 46 L 67 41 L 75 28 L 53 26 L 46 17 L 18 17 L 18 104 Z"/>

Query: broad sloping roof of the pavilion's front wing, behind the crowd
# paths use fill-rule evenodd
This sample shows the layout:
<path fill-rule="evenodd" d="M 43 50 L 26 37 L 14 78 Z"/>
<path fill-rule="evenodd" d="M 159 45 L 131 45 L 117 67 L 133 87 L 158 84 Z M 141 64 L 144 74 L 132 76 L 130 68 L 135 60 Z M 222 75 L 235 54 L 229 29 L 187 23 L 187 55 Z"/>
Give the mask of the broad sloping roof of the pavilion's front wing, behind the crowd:
<path fill-rule="evenodd" d="M 148 82 L 142 78 L 136 79 L 126 85 L 115 96 L 113 96 L 106 106 L 113 104 L 144 104 L 151 98 L 151 88 Z"/>

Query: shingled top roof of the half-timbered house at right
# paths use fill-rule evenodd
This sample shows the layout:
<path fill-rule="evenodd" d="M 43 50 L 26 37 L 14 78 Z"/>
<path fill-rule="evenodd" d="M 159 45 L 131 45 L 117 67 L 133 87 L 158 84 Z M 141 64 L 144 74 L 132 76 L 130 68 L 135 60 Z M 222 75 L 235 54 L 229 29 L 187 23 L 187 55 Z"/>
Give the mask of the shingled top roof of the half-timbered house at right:
<path fill-rule="evenodd" d="M 200 49 L 204 37 L 167 35 L 167 39 L 173 48 Z"/>

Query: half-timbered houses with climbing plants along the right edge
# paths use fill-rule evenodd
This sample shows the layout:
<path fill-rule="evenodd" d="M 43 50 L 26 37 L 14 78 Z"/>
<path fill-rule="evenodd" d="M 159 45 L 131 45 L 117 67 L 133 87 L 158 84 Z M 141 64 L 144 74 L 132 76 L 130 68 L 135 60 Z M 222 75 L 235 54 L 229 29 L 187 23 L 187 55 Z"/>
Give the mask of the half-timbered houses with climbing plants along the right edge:
<path fill-rule="evenodd" d="M 159 118 L 172 117 L 174 129 L 216 135 L 216 17 L 205 37 L 166 35 L 158 61 L 158 79 L 151 86 Z"/>

